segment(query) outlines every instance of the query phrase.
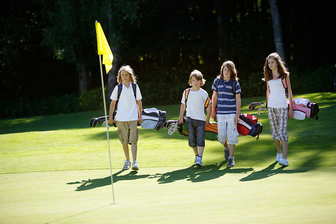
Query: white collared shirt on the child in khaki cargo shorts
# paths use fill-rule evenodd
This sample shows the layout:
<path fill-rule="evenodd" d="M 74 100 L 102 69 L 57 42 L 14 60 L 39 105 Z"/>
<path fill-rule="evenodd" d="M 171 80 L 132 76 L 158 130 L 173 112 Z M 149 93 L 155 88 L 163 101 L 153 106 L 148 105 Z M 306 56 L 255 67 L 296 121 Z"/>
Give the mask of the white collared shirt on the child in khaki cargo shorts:
<path fill-rule="evenodd" d="M 119 97 L 118 103 L 118 112 L 115 117 L 117 121 L 132 121 L 138 120 L 138 107 L 136 105 L 136 100 L 141 100 L 141 93 L 139 86 L 136 85 L 136 100 L 134 97 L 134 92 L 132 88 L 132 83 L 129 83 L 129 87 L 127 88 L 124 83 L 122 84 L 122 90 Z M 111 100 L 117 100 L 118 97 L 118 85 L 114 88 L 111 94 Z"/>

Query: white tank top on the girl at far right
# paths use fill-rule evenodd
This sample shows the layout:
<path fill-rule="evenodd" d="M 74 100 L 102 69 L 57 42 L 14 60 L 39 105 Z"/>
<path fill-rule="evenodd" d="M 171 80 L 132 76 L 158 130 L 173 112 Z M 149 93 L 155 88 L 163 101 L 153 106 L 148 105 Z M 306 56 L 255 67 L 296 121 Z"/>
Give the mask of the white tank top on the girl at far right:
<path fill-rule="evenodd" d="M 285 88 L 281 79 L 268 81 L 270 95 L 267 106 L 273 108 L 287 107 L 287 99 L 285 95 Z"/>

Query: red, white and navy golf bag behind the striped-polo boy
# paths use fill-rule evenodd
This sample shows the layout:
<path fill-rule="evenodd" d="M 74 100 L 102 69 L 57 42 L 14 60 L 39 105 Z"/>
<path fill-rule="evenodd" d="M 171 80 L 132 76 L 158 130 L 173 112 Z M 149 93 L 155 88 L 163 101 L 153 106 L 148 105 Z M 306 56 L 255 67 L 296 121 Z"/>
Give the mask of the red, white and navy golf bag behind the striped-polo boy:
<path fill-rule="evenodd" d="M 246 136 L 250 135 L 256 140 L 262 132 L 262 124 L 258 123 L 258 118 L 251 114 L 239 114 L 239 122 L 237 124 L 238 133 Z"/>

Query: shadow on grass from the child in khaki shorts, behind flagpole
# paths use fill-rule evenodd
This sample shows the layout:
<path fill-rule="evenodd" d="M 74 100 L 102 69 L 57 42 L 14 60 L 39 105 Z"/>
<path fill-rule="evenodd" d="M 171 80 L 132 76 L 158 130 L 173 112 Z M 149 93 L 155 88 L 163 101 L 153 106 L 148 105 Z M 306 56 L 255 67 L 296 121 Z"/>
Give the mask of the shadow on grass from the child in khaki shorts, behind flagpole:
<path fill-rule="evenodd" d="M 147 178 L 150 175 L 135 175 L 138 172 L 137 171 L 131 171 L 126 175 L 121 175 L 122 172 L 125 170 L 121 170 L 115 174 L 113 174 L 113 183 L 116 183 L 117 181 L 121 180 L 135 180 L 135 179 L 140 179 L 140 178 Z M 91 190 L 97 187 L 104 187 L 107 185 L 111 185 L 111 176 L 109 177 L 104 177 L 104 178 L 99 178 L 99 179 L 89 179 L 89 180 L 82 180 L 82 181 L 77 181 L 77 182 L 70 182 L 67 184 L 81 184 L 80 186 L 77 187 L 75 191 L 84 191 L 84 190 Z"/>

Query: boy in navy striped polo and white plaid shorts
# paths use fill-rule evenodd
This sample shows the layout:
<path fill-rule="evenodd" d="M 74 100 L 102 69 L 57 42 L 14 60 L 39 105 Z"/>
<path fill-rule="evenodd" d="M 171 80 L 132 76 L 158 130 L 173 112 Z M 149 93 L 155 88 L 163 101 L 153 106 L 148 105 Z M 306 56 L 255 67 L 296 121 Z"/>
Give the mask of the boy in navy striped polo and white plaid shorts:
<path fill-rule="evenodd" d="M 234 87 L 234 88 L 233 88 Z M 233 89 L 236 89 L 233 92 Z M 232 61 L 225 61 L 220 69 L 220 75 L 212 84 L 212 110 L 211 117 L 218 120 L 218 141 L 222 145 L 229 144 L 229 152 L 224 150 L 224 157 L 227 162 L 226 167 L 235 165 L 234 153 L 238 143 L 237 124 L 240 113 L 240 93 L 236 66 Z M 218 100 L 217 113 L 215 111 Z M 226 149 L 226 148 L 225 148 Z"/>

